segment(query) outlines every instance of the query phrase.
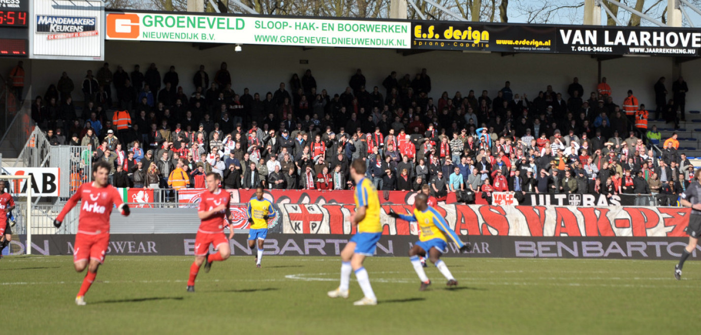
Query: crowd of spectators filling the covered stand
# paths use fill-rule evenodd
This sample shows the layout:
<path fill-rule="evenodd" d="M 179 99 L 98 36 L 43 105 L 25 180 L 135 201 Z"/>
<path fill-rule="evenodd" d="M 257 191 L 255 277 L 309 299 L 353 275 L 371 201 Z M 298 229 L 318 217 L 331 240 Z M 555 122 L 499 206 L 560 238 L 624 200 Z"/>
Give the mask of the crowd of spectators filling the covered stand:
<path fill-rule="evenodd" d="M 266 93 L 235 92 L 231 81 L 226 63 L 212 76 L 200 66 L 186 94 L 175 67 L 104 63 L 77 85 L 64 72 L 36 97 L 32 118 L 51 144 L 90 146 L 118 187 L 204 187 L 214 171 L 227 189 L 352 189 L 349 162 L 359 158 L 379 190 L 428 184 L 439 199 L 455 192 L 466 202 L 505 191 L 678 194 L 693 178 L 676 135 L 656 154 L 652 113 L 630 90 L 613 101 L 606 78 L 587 90 L 574 78 L 566 92 L 547 86 L 532 99 L 509 81 L 496 93 L 437 94 L 426 69 L 392 71 L 379 86 L 358 69 L 333 95 L 311 70 Z M 669 99 L 665 78 L 654 89 L 654 119 L 678 125 L 686 82 L 674 81 Z"/>

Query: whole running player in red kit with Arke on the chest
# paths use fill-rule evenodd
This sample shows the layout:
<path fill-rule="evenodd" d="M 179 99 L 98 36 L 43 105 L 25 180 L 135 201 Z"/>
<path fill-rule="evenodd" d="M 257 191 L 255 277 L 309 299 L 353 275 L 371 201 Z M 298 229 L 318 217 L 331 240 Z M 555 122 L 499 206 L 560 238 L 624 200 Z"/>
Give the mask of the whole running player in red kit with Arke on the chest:
<path fill-rule="evenodd" d="M 110 170 L 111 166 L 104 160 L 95 163 L 93 182 L 82 184 L 68 200 L 58 217 L 53 220 L 53 225 L 60 228 L 66 214 L 78 204 L 78 200 L 81 200 L 73 264 L 76 271 L 83 272 L 88 268 L 88 273 L 76 296 L 76 305 L 79 306 L 86 304 L 84 296 L 95 281 L 97 268 L 104 262 L 104 256 L 109 247 L 109 214 L 112 212 L 112 207 L 116 205 L 125 217 L 130 213 L 129 206 L 122 201 L 117 189 L 107 183 Z M 90 261 L 89 265 L 88 261 Z"/>

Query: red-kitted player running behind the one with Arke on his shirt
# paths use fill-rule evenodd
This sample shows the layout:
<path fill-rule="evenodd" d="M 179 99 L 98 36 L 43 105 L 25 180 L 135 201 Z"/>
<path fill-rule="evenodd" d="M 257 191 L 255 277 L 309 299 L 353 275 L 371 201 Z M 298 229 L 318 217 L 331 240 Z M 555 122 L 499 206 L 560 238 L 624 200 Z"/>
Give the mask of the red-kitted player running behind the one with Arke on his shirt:
<path fill-rule="evenodd" d="M 195 261 L 190 266 L 190 278 L 187 280 L 187 292 L 195 292 L 195 278 L 200 266 L 205 264 L 205 272 L 210 272 L 213 261 L 224 261 L 231 255 L 229 240 L 233 238 L 233 227 L 226 219 L 233 219 L 229 210 L 231 193 L 219 189 L 221 178 L 217 172 L 207 173 L 207 191 L 200 197 L 197 214 L 202 220 L 195 238 Z M 224 235 L 224 228 L 229 226 L 229 240 Z M 210 244 L 219 250 L 210 254 Z"/>

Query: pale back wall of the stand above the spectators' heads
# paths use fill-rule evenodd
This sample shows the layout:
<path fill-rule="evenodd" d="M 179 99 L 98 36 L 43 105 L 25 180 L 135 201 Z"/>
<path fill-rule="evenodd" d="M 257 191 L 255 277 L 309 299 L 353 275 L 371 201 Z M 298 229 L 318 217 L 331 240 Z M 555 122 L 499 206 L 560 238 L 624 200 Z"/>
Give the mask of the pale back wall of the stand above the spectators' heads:
<path fill-rule="evenodd" d="M 578 76 L 585 88 L 585 97 L 596 88 L 597 60 L 587 55 L 542 55 L 520 54 L 502 57 L 498 53 L 461 53 L 457 51 L 432 51 L 403 56 L 395 50 L 372 50 L 360 48 L 313 48 L 303 50 L 297 47 L 243 46 L 242 53 L 235 53 L 233 46 L 218 46 L 199 50 L 189 43 L 108 41 L 105 46 L 106 61 L 113 71 L 121 64 L 126 71 L 132 71 L 134 64 L 140 64 L 142 72 L 151 62 L 155 62 L 161 75 L 175 65 L 180 85 L 186 93 L 193 91 L 192 76 L 200 64 L 204 64 L 210 79 L 219 64 L 225 61 L 233 79 L 237 93 L 248 87 L 251 93 L 274 91 L 281 81 L 287 83 L 293 72 L 299 76 L 311 69 L 319 86 L 329 94 L 341 93 L 348 86 L 348 79 L 360 67 L 367 78 L 368 90 L 380 86 L 390 71 L 397 71 L 399 77 L 409 73 L 414 77 L 422 67 L 428 69 L 433 90 L 431 97 L 437 99 L 443 91 L 452 97 L 456 90 L 467 95 L 468 90 L 489 90 L 496 96 L 504 81 L 511 81 L 515 93 L 526 93 L 533 99 L 538 90 L 547 85 L 564 93 L 574 76 Z M 299 64 L 308 60 L 308 64 Z M 11 65 L 0 60 L 0 69 L 9 71 Z M 25 62 L 26 64 L 27 62 Z M 691 90 L 701 89 L 701 60 L 683 64 L 686 81 Z M 56 83 L 62 71 L 67 71 L 79 90 L 87 69 L 97 72 L 102 62 L 33 60 L 32 78 L 36 95 L 43 95 L 50 83 Z M 613 90 L 614 101 L 622 104 L 625 91 L 632 89 L 642 103 L 654 104 L 653 85 L 660 76 L 672 78 L 672 59 L 665 57 L 622 57 L 602 63 L 602 75 L 608 77 Z M 668 79 L 671 91 L 671 80 Z M 381 88 L 381 92 L 383 89 Z M 688 107 L 701 107 L 701 99 L 688 97 Z M 77 92 L 77 100 L 81 94 Z M 654 107 L 653 107 L 654 108 Z"/>

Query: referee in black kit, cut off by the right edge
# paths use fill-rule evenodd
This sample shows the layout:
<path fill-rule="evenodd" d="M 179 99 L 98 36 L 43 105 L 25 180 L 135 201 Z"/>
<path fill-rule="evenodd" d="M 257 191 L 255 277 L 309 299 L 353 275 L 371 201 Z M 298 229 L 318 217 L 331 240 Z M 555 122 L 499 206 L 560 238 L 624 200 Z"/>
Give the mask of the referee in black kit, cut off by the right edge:
<path fill-rule="evenodd" d="M 684 261 L 688 259 L 691 252 L 696 248 L 699 236 L 701 235 L 701 169 L 696 170 L 694 181 L 691 182 L 686 192 L 681 193 L 679 203 L 683 207 L 691 207 L 689 215 L 689 224 L 684 228 L 684 231 L 689 235 L 689 244 L 681 253 L 679 264 L 674 266 L 674 278 L 681 280 L 681 268 L 684 266 Z"/>

